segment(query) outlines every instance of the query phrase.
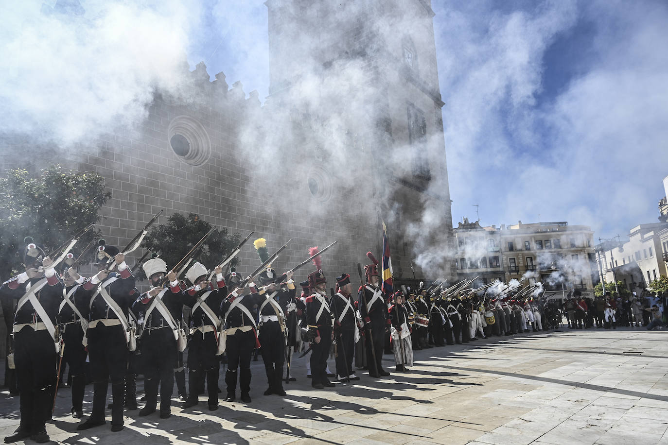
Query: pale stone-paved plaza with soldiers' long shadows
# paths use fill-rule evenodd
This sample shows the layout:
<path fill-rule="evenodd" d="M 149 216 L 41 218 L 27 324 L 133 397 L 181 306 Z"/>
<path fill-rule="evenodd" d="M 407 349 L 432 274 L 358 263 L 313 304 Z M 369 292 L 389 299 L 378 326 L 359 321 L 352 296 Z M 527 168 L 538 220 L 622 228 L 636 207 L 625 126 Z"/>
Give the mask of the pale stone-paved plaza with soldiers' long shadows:
<path fill-rule="evenodd" d="M 392 357 L 385 356 L 390 371 Z M 297 360 L 298 381 L 279 398 L 262 394 L 260 359 L 251 404 L 221 398 L 210 412 L 202 396 L 198 408 L 172 408 L 168 420 L 126 412 L 117 433 L 108 413 L 106 426 L 79 434 L 63 388 L 47 432 L 72 445 L 668 444 L 668 331 L 523 334 L 416 351 L 415 362 L 409 374 L 375 380 L 360 372 L 359 382 L 314 390 Z M 18 398 L 3 392 L 0 404 L 4 437 L 18 426 Z"/>

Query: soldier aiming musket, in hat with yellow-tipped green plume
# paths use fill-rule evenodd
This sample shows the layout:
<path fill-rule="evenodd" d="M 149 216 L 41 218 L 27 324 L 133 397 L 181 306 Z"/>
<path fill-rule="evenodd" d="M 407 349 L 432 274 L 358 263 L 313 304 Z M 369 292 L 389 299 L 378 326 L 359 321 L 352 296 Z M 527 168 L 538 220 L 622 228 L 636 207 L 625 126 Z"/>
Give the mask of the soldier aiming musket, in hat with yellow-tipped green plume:
<path fill-rule="evenodd" d="M 265 372 L 267 372 L 267 382 L 269 384 L 265 396 L 271 394 L 286 395 L 285 390 L 283 390 L 283 368 L 288 345 L 285 313 L 290 304 L 295 304 L 296 291 L 292 272 L 286 272 L 285 276 L 287 278 L 285 287 L 281 286 L 280 282 L 283 276 L 277 276 L 271 266 L 259 276 L 259 282 L 265 286 L 260 290 L 260 295 L 263 296 L 264 301 L 259 307 L 259 340 L 262 345 L 262 360 L 265 362 Z"/>

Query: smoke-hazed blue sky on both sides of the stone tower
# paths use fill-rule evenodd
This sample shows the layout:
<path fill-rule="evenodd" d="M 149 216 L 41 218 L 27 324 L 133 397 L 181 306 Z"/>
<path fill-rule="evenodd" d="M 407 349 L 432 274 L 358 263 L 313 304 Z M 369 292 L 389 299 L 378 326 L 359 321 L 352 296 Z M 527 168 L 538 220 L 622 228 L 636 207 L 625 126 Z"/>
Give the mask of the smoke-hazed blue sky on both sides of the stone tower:
<path fill-rule="evenodd" d="M 80 141 L 112 115 L 140 116 L 136 105 L 154 85 L 175 85 L 184 61 L 268 93 L 262 1 L 81 5 L 77 17 L 49 14 L 55 0 L 3 11 L 5 129 Z M 473 204 L 483 225 L 566 220 L 606 238 L 657 221 L 668 175 L 667 2 L 432 5 L 455 226 L 476 218 Z"/>

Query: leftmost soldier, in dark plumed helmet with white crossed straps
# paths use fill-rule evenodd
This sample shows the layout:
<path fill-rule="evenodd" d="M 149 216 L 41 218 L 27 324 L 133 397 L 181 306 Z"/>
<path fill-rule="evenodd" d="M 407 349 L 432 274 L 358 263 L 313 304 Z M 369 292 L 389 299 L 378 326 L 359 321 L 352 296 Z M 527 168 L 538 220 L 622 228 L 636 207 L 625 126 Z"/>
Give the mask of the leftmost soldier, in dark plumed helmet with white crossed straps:
<path fill-rule="evenodd" d="M 19 428 L 5 437 L 5 443 L 31 438 L 49 442 L 46 421 L 51 414 L 57 373 L 58 305 L 63 284 L 43 248 L 30 237 L 21 250 L 25 272 L 3 283 L 0 298 L 18 299 L 14 315 L 14 360 L 20 392 Z"/>

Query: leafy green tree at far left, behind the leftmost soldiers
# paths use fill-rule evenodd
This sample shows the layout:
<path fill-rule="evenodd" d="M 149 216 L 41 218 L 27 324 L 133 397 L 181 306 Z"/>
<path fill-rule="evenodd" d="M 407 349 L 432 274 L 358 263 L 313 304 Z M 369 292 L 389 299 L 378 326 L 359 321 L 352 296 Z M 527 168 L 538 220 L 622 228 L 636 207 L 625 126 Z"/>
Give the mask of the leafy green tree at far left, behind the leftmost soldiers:
<path fill-rule="evenodd" d="M 98 211 L 111 197 L 104 191 L 104 177 L 77 173 L 52 165 L 39 175 L 10 169 L 0 177 L 0 274 L 3 278 L 22 270 L 16 252 L 23 238 L 31 236 L 45 250 L 57 248 L 71 236 L 98 222 Z M 77 255 L 95 236 L 79 240 Z"/>

